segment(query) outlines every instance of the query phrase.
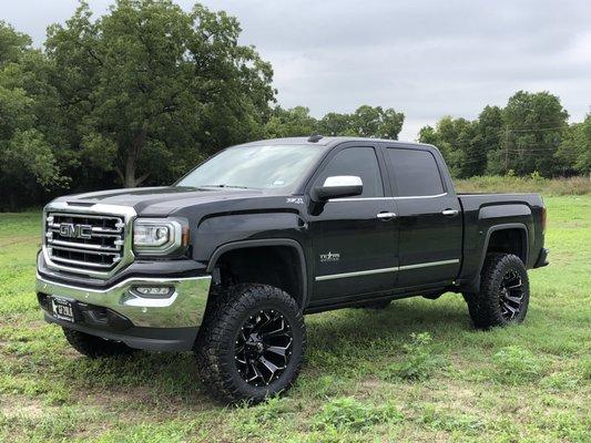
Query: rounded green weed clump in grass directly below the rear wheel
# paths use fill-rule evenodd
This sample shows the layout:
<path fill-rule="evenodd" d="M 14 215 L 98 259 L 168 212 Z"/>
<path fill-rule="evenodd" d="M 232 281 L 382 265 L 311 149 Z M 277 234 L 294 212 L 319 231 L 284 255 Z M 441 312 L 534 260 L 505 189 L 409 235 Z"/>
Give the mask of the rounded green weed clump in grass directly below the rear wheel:
<path fill-rule="evenodd" d="M 501 383 L 519 384 L 540 377 L 540 361 L 527 349 L 518 346 L 502 348 L 492 357 L 496 379 Z"/>

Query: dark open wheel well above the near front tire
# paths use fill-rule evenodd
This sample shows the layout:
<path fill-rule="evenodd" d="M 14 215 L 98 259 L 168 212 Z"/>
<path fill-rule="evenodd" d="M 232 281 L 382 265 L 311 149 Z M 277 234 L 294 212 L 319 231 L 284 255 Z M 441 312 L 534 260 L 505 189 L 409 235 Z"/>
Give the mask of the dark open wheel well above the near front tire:
<path fill-rule="evenodd" d="M 232 249 L 215 264 L 218 285 L 263 284 L 279 288 L 304 307 L 304 275 L 298 251 L 291 246 L 255 246 Z"/>

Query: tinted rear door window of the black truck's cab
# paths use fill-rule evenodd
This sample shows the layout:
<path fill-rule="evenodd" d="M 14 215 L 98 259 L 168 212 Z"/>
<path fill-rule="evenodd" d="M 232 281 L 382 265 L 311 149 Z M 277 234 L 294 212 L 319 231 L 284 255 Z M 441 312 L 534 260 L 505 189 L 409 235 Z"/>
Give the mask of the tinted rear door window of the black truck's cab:
<path fill-rule="evenodd" d="M 444 193 L 441 175 L 435 157 L 428 151 L 387 150 L 400 197 L 438 195 Z"/>

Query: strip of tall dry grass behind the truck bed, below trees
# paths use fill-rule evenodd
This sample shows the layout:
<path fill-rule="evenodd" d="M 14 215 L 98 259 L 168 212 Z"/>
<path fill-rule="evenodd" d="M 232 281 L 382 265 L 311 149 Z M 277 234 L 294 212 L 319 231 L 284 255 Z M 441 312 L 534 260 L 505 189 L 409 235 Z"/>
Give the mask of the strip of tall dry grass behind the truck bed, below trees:
<path fill-rule="evenodd" d="M 590 177 L 543 178 L 537 174 L 528 177 L 490 175 L 456 179 L 460 193 L 540 193 L 544 195 L 591 194 Z"/>

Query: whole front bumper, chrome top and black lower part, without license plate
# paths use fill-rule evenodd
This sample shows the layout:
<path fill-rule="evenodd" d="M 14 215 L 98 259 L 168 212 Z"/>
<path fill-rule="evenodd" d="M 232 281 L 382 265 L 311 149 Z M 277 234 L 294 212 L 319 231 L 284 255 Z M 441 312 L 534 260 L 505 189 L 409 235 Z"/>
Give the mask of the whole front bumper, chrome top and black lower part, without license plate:
<path fill-rule="evenodd" d="M 203 320 L 211 276 L 129 278 L 108 288 L 52 281 L 37 276 L 37 293 L 48 322 L 149 350 L 190 350 Z M 142 297 L 134 288 L 170 287 L 164 298 Z M 71 300 L 77 321 L 53 316 L 49 297 Z"/>

